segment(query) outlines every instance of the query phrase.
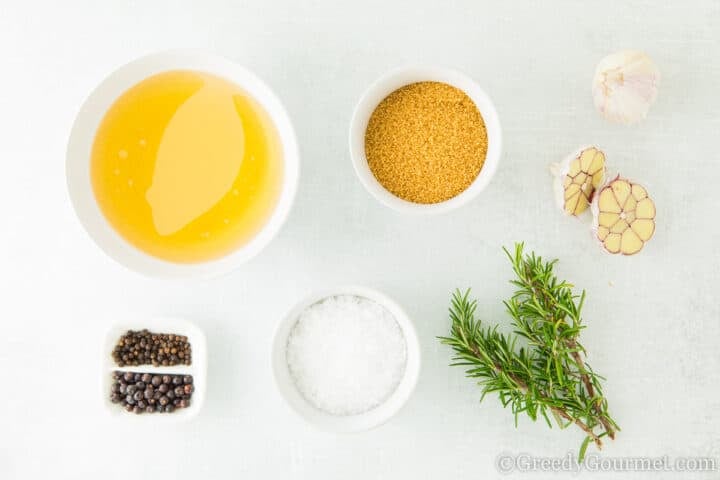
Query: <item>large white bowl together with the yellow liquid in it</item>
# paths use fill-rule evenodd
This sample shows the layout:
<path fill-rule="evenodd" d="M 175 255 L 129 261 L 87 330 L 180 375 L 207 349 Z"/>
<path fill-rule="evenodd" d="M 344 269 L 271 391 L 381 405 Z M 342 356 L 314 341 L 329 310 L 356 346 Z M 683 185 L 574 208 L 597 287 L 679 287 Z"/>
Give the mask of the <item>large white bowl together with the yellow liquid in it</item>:
<path fill-rule="evenodd" d="M 292 206 L 290 118 L 257 76 L 196 51 L 110 74 L 80 108 L 66 174 L 90 236 L 151 276 L 213 276 L 257 255 Z"/>

